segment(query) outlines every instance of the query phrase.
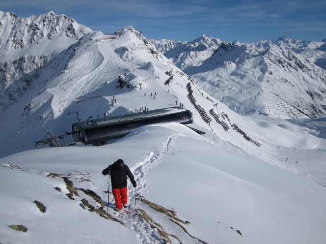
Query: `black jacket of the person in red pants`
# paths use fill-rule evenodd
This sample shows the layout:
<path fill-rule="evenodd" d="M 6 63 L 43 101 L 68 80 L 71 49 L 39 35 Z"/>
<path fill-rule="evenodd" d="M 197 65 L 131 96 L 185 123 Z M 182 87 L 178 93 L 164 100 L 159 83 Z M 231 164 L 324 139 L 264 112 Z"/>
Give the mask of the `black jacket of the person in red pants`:
<path fill-rule="evenodd" d="M 112 170 L 110 172 L 110 167 Z M 127 186 L 127 175 L 132 183 L 132 185 L 136 184 L 136 181 L 133 178 L 133 175 L 127 165 L 124 165 L 121 170 L 119 170 L 115 164 L 108 166 L 106 169 L 102 171 L 103 175 L 111 174 L 111 184 L 112 188 L 121 189 Z"/>

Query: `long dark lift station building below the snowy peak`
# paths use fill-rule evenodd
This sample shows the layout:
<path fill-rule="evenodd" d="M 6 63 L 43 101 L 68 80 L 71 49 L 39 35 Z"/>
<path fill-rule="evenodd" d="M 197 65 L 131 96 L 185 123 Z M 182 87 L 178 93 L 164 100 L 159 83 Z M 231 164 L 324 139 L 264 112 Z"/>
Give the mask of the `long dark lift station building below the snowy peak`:
<path fill-rule="evenodd" d="M 179 107 L 107 116 L 72 124 L 72 134 L 76 143 L 98 145 L 124 137 L 142 126 L 167 122 L 191 124 L 193 116 L 191 111 Z"/>

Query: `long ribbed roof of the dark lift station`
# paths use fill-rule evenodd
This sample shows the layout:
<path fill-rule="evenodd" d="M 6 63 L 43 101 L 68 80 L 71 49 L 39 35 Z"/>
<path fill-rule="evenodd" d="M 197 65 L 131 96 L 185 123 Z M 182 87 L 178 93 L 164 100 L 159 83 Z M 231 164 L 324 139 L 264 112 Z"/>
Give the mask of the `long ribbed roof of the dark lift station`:
<path fill-rule="evenodd" d="M 107 116 L 105 118 L 89 119 L 83 122 L 74 123 L 72 125 L 78 129 L 91 129 L 91 128 L 98 128 L 98 127 L 103 127 L 108 125 L 125 123 L 131 120 L 139 120 L 147 117 L 156 117 L 162 114 L 172 114 L 172 113 L 182 112 L 182 111 L 186 111 L 186 109 L 179 108 L 179 107 L 161 108 L 161 109 L 155 109 L 146 112 L 129 113 L 129 114 L 118 115 L 118 116 Z"/>

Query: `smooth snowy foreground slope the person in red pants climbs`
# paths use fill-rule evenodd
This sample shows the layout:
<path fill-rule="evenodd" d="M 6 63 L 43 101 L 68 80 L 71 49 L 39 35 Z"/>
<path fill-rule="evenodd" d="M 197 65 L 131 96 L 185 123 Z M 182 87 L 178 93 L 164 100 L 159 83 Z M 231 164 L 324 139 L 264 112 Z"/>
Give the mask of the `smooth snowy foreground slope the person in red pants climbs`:
<path fill-rule="evenodd" d="M 93 191 L 106 210 L 101 170 L 118 158 L 138 182 L 136 205 L 130 183 L 127 209 L 114 215 L 110 198 L 108 213 L 125 226 L 83 209 L 84 198 L 95 209 L 101 204 L 82 190 L 70 200 L 60 178 Z M 146 126 L 101 147 L 26 151 L 0 164 L 2 243 L 318 244 L 326 238 L 325 188 L 216 146 L 182 125 Z M 35 200 L 46 206 L 44 213 Z M 8 227 L 17 224 L 28 231 Z"/>

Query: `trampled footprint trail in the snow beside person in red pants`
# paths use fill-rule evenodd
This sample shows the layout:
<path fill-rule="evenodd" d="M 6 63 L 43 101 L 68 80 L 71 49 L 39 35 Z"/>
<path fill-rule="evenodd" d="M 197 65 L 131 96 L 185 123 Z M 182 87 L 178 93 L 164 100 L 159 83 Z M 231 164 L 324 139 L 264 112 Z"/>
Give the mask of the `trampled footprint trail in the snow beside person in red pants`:
<path fill-rule="evenodd" d="M 134 189 L 129 189 L 129 206 L 116 216 L 130 230 L 137 232 L 142 243 L 205 243 L 187 232 L 185 225 L 190 223 L 178 217 L 174 210 L 159 206 L 142 196 L 149 191 L 146 178 L 148 170 L 156 167 L 171 153 L 178 136 L 167 136 L 161 142 L 159 151 L 146 151 L 139 160 L 129 166 L 137 181 L 137 195 L 134 196 Z M 134 197 L 137 199 L 136 206 Z"/>

